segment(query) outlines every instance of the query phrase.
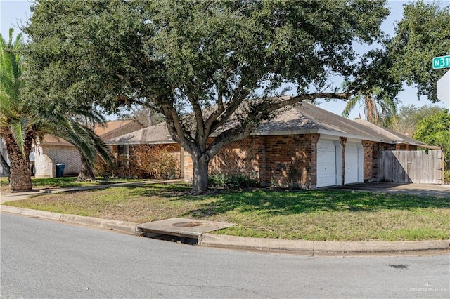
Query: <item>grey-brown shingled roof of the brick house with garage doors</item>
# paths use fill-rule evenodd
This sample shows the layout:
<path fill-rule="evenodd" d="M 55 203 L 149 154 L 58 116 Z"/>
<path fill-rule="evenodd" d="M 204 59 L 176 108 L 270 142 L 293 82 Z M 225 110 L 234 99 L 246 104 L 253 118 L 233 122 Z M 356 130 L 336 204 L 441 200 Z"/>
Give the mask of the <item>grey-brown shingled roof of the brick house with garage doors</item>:
<path fill-rule="evenodd" d="M 225 127 L 233 124 L 226 124 Z M 220 132 L 221 129 L 217 130 Z M 216 134 L 217 134 L 216 132 Z M 291 135 L 319 133 L 390 144 L 426 145 L 361 119 L 350 120 L 306 102 L 283 109 L 270 121 L 264 121 L 251 135 Z M 213 135 L 214 136 L 214 135 Z M 108 140 L 110 145 L 173 143 L 165 122 Z"/>

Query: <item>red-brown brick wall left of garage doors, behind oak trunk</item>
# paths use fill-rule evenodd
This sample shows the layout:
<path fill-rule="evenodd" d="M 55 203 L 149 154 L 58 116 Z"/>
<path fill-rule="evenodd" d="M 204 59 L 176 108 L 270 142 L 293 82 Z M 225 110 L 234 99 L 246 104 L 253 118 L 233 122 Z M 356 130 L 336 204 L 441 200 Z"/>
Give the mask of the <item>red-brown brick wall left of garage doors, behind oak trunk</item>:
<path fill-rule="evenodd" d="M 245 173 L 263 185 L 316 186 L 316 143 L 319 134 L 250 136 L 224 147 L 211 161 L 210 173 Z M 184 178 L 192 180 L 193 164 L 184 153 Z"/>

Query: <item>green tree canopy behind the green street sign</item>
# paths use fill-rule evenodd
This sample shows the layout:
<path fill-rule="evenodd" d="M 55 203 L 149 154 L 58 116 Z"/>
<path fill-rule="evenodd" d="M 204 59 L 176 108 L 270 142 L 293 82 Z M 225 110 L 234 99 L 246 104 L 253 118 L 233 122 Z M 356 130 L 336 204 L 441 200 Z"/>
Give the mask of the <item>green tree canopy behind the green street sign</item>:
<path fill-rule="evenodd" d="M 432 69 L 432 58 L 450 55 L 450 6 L 416 1 L 404 5 L 404 16 L 387 44 L 392 75 L 437 102 L 436 84 L 447 69 Z"/>

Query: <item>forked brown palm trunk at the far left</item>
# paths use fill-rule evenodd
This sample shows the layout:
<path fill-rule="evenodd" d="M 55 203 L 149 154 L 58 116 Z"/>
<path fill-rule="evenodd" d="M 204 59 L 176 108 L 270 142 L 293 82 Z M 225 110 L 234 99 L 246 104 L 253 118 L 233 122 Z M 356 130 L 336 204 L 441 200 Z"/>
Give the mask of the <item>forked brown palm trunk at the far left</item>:
<path fill-rule="evenodd" d="M 30 173 L 30 151 L 32 146 L 32 138 L 25 138 L 25 157 L 15 142 L 13 135 L 5 136 L 6 148 L 8 149 L 10 166 L 9 188 L 11 192 L 23 192 L 32 190 L 31 173 Z"/>

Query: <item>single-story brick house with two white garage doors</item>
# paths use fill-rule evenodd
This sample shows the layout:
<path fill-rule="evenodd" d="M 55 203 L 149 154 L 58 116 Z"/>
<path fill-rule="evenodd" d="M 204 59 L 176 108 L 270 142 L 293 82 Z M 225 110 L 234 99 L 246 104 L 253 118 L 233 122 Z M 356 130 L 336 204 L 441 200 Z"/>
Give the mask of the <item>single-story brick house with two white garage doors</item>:
<path fill-rule="evenodd" d="M 192 159 L 170 138 L 165 123 L 112 138 L 107 144 L 124 159 L 140 145 L 166 145 L 179 154 L 181 177 L 192 178 Z M 245 173 L 264 185 L 315 189 L 378 180 L 380 151 L 418 147 L 438 149 L 367 121 L 352 121 L 300 103 L 261 124 L 248 138 L 224 147 L 210 161 L 210 173 Z"/>

